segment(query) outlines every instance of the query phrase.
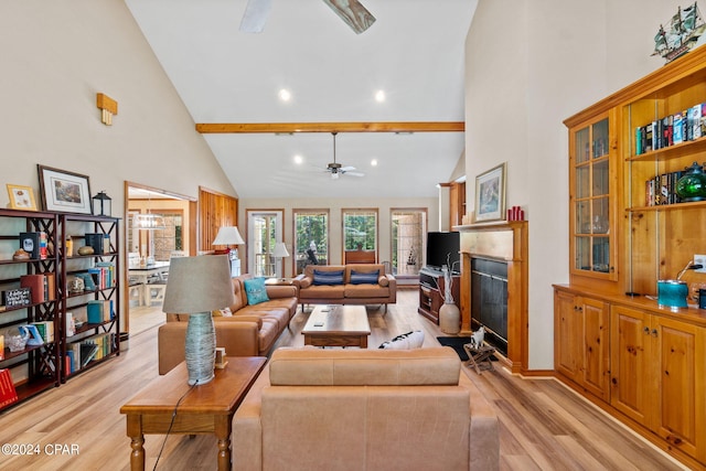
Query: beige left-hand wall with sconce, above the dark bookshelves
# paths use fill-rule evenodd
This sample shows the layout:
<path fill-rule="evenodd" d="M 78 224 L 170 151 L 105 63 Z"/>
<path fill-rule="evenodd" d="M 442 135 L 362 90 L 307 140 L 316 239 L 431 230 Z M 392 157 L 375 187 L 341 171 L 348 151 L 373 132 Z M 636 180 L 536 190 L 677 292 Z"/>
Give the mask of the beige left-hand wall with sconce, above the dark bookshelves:
<path fill-rule="evenodd" d="M 86 174 L 94 194 L 113 197 L 114 215 L 124 213 L 125 180 L 235 195 L 121 0 L 3 1 L 0 31 L 4 183 L 39 197 L 38 163 Z M 96 93 L 118 101 L 110 127 Z"/>

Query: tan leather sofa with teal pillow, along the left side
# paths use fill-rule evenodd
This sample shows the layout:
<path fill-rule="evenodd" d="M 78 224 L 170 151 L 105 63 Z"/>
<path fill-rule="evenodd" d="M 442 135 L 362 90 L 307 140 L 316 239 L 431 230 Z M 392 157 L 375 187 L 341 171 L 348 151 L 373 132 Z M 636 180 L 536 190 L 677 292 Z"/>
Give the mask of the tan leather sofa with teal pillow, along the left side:
<path fill-rule="evenodd" d="M 235 301 L 232 317 L 215 312 L 216 346 L 224 346 L 227 356 L 268 356 L 275 341 L 297 313 L 296 286 L 267 286 L 268 301 L 248 304 L 245 280 L 252 275 L 233 278 Z M 224 307 L 225 308 L 225 307 Z M 163 375 L 184 361 L 184 342 L 189 314 L 167 313 L 167 323 L 159 328 L 159 374 Z"/>

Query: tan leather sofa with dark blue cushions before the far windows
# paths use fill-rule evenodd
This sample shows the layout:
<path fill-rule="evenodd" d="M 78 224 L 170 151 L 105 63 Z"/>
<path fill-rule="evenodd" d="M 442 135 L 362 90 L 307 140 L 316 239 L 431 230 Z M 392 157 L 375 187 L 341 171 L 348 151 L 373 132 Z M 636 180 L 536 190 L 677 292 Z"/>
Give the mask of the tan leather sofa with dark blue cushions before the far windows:
<path fill-rule="evenodd" d="M 375 280 L 365 279 L 377 271 Z M 330 274 L 342 272 L 335 280 Z M 328 283 L 328 281 L 340 281 Z M 373 282 L 371 282 L 373 281 Z M 295 278 L 302 304 L 394 304 L 397 302 L 397 280 L 385 272 L 383 264 L 308 265 Z"/>

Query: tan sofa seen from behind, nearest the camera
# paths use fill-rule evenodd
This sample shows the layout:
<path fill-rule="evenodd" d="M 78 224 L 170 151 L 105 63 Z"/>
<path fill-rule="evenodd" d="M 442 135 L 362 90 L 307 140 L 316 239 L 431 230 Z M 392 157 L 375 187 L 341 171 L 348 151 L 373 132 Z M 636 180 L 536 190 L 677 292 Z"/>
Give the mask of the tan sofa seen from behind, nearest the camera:
<path fill-rule="evenodd" d="M 499 468 L 498 417 L 450 347 L 278 349 L 235 414 L 236 470 Z"/>

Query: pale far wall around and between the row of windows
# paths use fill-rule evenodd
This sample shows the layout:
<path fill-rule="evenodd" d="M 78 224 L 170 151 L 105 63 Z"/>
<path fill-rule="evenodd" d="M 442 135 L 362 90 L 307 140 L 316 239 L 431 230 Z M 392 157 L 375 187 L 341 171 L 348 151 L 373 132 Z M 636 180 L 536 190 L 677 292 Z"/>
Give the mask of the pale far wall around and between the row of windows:
<path fill-rule="evenodd" d="M 377 231 L 378 231 L 378 260 L 392 260 L 392 240 L 391 240 L 391 210 L 392 208 L 426 208 L 427 210 L 427 229 L 439 231 L 438 228 L 438 200 L 437 199 L 339 199 L 339 200 L 321 200 L 321 199 L 243 199 L 239 201 L 239 221 L 238 227 L 242 227 L 240 234 L 245 234 L 246 218 L 248 210 L 285 210 L 285 244 L 290 249 L 293 246 L 293 217 L 292 210 L 306 208 L 329 208 L 329 254 L 331 256 L 330 264 L 341 264 L 342 254 L 342 217 L 341 210 L 346 208 L 377 208 Z M 240 248 L 240 250 L 243 250 Z M 243 256 L 243 251 L 240 251 Z M 285 260 L 285 276 L 292 275 L 291 258 Z"/>

